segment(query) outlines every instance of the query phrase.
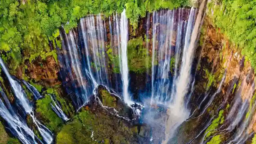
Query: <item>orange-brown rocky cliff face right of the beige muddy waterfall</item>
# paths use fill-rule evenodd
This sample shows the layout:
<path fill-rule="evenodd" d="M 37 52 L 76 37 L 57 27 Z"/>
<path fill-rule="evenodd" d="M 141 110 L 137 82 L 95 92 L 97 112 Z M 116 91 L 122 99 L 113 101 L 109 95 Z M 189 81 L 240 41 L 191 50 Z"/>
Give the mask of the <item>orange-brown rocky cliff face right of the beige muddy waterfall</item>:
<path fill-rule="evenodd" d="M 251 143 L 250 134 L 255 131 L 253 68 L 208 18 L 199 43 L 192 115 L 180 126 L 178 143 L 228 143 L 232 138 L 238 140 L 239 134 L 247 134 L 243 142 Z"/>

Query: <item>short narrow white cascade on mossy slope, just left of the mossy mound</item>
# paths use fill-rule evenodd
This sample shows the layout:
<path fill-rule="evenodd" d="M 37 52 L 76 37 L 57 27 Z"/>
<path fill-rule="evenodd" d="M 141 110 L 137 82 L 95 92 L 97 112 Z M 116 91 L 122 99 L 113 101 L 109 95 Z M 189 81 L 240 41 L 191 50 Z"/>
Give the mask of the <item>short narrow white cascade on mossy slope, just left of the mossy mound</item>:
<path fill-rule="evenodd" d="M 56 98 L 50 94 L 50 97 L 52 99 L 52 102 L 54 104 L 51 103 L 52 106 L 52 110 L 58 115 L 59 118 L 62 118 L 62 120 L 64 120 L 64 122 L 68 121 L 68 117 L 66 116 L 66 114 L 62 111 L 61 106 L 59 104 L 59 102 L 56 100 Z"/>

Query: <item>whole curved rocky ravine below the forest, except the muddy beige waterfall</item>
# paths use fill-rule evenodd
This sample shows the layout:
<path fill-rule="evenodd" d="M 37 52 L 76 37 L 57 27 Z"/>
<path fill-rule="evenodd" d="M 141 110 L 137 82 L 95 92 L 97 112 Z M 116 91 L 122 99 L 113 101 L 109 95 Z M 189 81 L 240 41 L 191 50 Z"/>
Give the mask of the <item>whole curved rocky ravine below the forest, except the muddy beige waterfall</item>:
<path fill-rule="evenodd" d="M 172 86 L 176 74 L 180 73 L 182 56 L 187 52 L 183 49 L 185 37 L 190 37 L 188 30 L 192 32 L 197 13 L 197 9 L 189 8 L 148 13 L 139 19 L 137 29 L 129 24 L 127 29 L 120 27 L 118 22 L 123 23 L 125 19 L 118 14 L 109 18 L 86 16 L 68 34 L 60 28 L 58 39 L 62 40 L 62 48 L 55 46 L 58 57 L 26 60 L 15 74 L 34 106 L 35 118 L 53 132 L 53 142 L 162 143 L 166 138 L 166 122 L 171 117 L 168 114 L 174 109 L 168 104 L 173 102 L 168 95 L 172 93 L 165 92 L 176 90 Z M 124 74 L 120 64 L 124 57 L 120 56 L 120 50 L 124 46 L 119 37 L 124 32 L 120 28 L 128 30 L 127 95 L 133 101 L 130 106 L 123 99 Z M 180 47 L 177 46 L 179 38 Z M 175 60 L 177 47 L 181 49 L 179 59 Z M 250 144 L 256 131 L 254 70 L 240 49 L 214 28 L 207 16 L 191 63 L 192 79 L 184 96 L 189 118 L 180 121 L 182 124 L 176 126 L 168 144 Z M 21 67 L 26 67 L 26 71 L 22 72 Z M 155 83 L 152 73 L 156 74 Z M 8 78 L 4 72 L 1 76 L 1 91 L 3 89 L 13 107 L 21 113 Z M 21 80 L 30 80 L 28 82 L 43 98 L 36 100 Z M 152 85 L 155 94 L 152 94 Z M 57 106 L 54 102 L 69 120 L 57 116 L 52 109 L 52 105 Z M 29 114 L 22 118 L 38 137 L 35 141 L 45 143 Z M 0 120 L 6 126 L 7 122 Z M 10 135 L 3 131 L 2 124 L 0 143 L 18 144 L 10 138 L 11 130 L 6 128 Z"/>

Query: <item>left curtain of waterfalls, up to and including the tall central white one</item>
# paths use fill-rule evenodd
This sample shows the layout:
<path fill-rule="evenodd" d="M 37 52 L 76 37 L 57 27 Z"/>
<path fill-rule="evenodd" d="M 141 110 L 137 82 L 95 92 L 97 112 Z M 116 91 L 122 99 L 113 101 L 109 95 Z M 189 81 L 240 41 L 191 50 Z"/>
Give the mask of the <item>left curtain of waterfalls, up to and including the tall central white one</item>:
<path fill-rule="evenodd" d="M 61 30 L 63 41 L 59 53 L 62 56 L 58 57 L 61 65 L 60 74 L 68 93 L 72 96 L 72 102 L 79 109 L 88 101 L 94 88 L 99 84 L 109 88 L 114 86 L 110 78 L 110 58 L 107 54 L 107 48 L 110 48 L 114 54 L 118 54 L 119 62 L 116 66 L 121 73 L 124 101 L 131 103 L 128 92 L 128 20 L 125 10 L 122 14 L 116 13 L 113 16 L 113 26 L 111 20 L 109 21 L 110 47 L 106 46 L 107 31 L 104 15 L 88 15 L 81 18 L 79 24 L 77 29 L 70 30 L 68 34 Z M 116 89 L 119 87 L 119 78 L 118 74 L 114 74 Z"/>

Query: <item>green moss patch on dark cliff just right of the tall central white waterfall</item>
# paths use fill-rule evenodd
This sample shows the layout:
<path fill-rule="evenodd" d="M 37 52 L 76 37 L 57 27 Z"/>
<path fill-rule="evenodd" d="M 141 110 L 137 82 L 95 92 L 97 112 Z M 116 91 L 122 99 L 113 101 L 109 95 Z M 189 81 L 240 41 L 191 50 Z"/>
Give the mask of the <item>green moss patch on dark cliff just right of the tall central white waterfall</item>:
<path fill-rule="evenodd" d="M 127 54 L 130 71 L 143 73 L 146 72 L 147 68 L 151 67 L 151 57 L 147 54 L 142 37 L 128 41 Z"/>

